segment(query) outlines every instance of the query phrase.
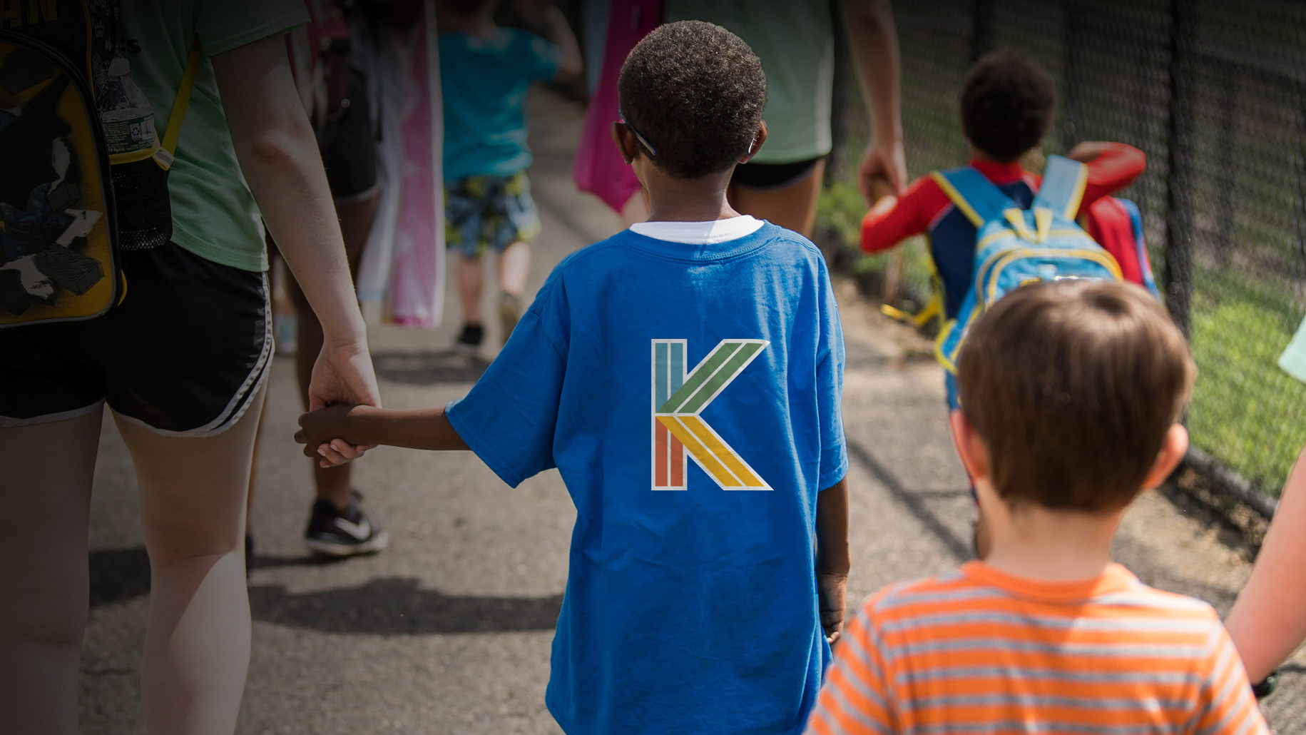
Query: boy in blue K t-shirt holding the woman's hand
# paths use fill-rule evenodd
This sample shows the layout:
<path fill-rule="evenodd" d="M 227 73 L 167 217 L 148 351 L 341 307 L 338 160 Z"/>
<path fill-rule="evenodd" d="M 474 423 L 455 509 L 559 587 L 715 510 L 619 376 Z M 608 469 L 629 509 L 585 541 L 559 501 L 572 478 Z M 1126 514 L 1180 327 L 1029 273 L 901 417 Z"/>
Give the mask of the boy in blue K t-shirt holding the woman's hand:
<path fill-rule="evenodd" d="M 725 191 L 767 138 L 748 46 L 696 21 L 622 68 L 648 222 L 563 260 L 466 398 L 332 406 L 296 435 L 558 467 L 577 520 L 546 701 L 569 735 L 799 732 L 844 619 L 844 341 L 808 240 Z M 350 443 L 350 445 L 346 445 Z"/>

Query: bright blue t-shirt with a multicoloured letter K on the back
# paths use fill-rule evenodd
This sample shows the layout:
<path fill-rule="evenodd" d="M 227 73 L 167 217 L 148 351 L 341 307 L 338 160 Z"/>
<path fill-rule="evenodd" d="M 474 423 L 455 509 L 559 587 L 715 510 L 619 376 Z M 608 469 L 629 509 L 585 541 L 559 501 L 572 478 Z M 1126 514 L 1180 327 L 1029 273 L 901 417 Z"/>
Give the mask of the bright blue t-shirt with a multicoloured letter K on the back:
<path fill-rule="evenodd" d="M 802 730 L 829 662 L 812 547 L 848 470 L 842 381 L 825 262 L 789 230 L 627 230 L 554 269 L 448 416 L 504 482 L 556 466 L 576 504 L 563 730 Z"/>

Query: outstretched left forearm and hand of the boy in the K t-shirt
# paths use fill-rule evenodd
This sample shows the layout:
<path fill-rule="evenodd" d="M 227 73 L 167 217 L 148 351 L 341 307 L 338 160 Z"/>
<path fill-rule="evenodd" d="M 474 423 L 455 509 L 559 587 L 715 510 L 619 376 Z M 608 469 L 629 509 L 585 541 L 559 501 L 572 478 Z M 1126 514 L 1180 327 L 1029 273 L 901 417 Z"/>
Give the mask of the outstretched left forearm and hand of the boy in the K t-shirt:
<path fill-rule="evenodd" d="M 400 411 L 337 403 L 303 414 L 299 427 L 295 441 L 304 445 L 308 457 L 326 457 L 319 448 L 333 440 L 428 450 L 468 448 L 444 415 L 443 406 Z"/>

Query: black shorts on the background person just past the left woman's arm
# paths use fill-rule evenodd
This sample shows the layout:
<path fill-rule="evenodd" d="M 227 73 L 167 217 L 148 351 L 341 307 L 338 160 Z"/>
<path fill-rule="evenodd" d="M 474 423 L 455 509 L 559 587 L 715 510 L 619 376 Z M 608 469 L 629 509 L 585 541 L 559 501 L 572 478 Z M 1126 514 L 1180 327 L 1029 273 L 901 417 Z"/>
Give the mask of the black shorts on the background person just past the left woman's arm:
<path fill-rule="evenodd" d="M 376 192 L 376 132 L 372 129 L 367 78 L 349 70 L 347 107 L 333 115 L 317 138 L 326 183 L 336 201 L 362 200 Z"/>

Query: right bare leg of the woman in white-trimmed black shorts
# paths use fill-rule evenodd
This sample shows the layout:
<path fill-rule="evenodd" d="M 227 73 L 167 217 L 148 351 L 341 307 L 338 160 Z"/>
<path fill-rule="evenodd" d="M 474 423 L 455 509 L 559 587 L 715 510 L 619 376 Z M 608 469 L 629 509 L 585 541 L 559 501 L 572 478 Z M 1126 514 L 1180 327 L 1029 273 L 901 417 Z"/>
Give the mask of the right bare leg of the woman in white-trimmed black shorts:
<path fill-rule="evenodd" d="M 171 437 L 118 418 L 140 483 L 150 556 L 141 693 L 150 732 L 230 735 L 249 666 L 246 496 L 264 392 L 212 437 Z"/>

